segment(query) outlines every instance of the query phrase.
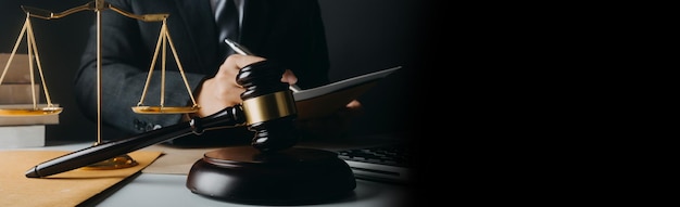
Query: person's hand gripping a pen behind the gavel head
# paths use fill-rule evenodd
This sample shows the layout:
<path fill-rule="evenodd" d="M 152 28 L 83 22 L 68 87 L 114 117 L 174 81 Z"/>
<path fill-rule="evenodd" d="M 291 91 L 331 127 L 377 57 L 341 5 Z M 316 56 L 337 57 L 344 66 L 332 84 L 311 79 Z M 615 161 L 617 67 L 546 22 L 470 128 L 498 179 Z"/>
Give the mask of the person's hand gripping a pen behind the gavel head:
<path fill-rule="evenodd" d="M 197 103 L 201 107 L 196 115 L 205 117 L 225 107 L 241 103 L 241 93 L 245 89 L 236 82 L 236 76 L 239 74 L 240 68 L 261 61 L 265 61 L 265 59 L 241 54 L 229 55 L 219 66 L 215 77 L 203 81 L 201 91 L 197 94 Z M 290 69 L 286 69 L 286 73 L 281 76 L 281 82 L 294 85 L 297 81 L 295 75 Z"/>

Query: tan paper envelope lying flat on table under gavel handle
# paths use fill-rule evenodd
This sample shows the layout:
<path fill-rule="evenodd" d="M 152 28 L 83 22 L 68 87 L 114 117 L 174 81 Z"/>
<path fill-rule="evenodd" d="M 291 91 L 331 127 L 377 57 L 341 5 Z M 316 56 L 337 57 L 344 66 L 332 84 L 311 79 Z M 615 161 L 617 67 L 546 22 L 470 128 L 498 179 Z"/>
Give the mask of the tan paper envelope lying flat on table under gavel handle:
<path fill-rule="evenodd" d="M 0 151 L 0 206 L 96 206 L 85 204 L 115 184 L 151 165 L 162 152 L 136 151 L 129 154 L 139 165 L 115 170 L 78 168 L 46 179 L 26 178 L 36 164 L 71 153 L 68 151 Z"/>

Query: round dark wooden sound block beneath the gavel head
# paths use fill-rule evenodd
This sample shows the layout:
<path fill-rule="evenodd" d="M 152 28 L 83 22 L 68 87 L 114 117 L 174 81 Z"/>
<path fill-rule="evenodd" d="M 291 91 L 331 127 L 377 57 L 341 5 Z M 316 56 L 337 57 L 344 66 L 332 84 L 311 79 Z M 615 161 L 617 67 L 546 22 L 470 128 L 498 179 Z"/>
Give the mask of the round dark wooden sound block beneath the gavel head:
<path fill-rule="evenodd" d="M 291 147 L 262 153 L 252 146 L 207 152 L 197 160 L 187 187 L 215 199 L 261 205 L 318 204 L 351 195 L 354 174 L 338 154 Z"/>

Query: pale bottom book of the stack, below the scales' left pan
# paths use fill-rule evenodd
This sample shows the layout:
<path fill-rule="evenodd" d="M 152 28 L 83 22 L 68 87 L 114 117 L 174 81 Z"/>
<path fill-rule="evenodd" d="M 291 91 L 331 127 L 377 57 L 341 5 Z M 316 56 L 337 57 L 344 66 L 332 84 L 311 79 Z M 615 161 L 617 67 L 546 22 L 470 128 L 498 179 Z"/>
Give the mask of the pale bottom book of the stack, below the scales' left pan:
<path fill-rule="evenodd" d="M 0 126 L 0 148 L 45 146 L 45 125 Z"/>

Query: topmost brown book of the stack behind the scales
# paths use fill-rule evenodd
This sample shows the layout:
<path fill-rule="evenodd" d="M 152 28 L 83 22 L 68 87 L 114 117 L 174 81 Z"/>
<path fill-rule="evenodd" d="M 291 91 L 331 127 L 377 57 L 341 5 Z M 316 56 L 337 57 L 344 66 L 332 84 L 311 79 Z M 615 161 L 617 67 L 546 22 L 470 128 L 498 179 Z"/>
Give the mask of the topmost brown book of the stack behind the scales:
<path fill-rule="evenodd" d="M 28 65 L 28 54 L 14 54 L 10 67 L 4 70 L 10 61 L 9 53 L 0 53 L 0 85 L 1 83 L 30 83 L 30 66 Z M 37 67 L 37 66 L 36 66 Z M 2 77 L 4 74 L 4 77 Z M 35 76 L 39 76 L 34 73 Z M 37 80 L 37 79 L 34 79 Z M 34 81 L 35 82 L 35 81 Z"/>

